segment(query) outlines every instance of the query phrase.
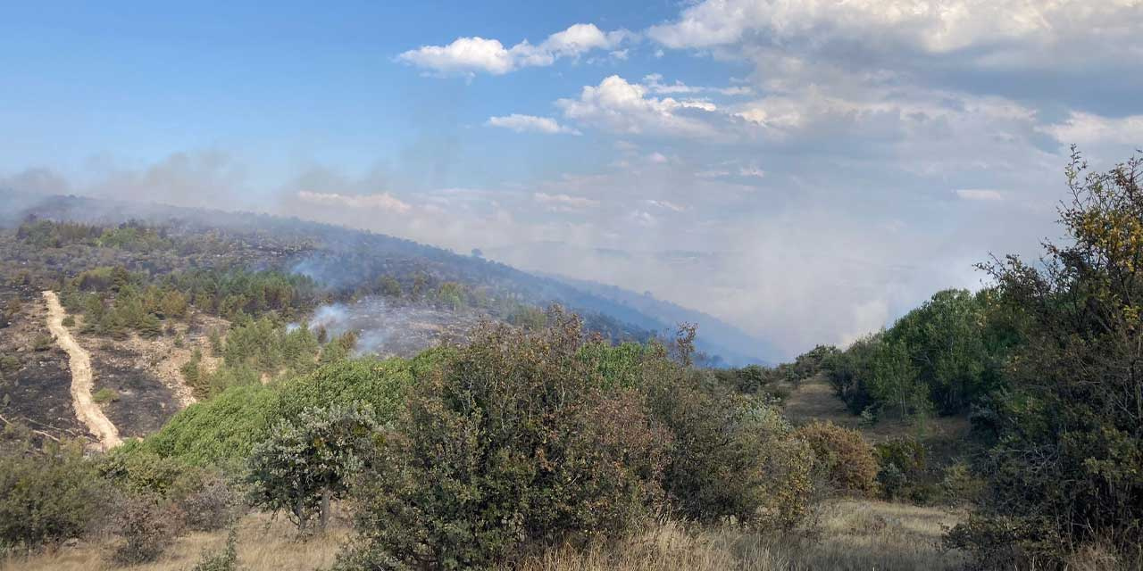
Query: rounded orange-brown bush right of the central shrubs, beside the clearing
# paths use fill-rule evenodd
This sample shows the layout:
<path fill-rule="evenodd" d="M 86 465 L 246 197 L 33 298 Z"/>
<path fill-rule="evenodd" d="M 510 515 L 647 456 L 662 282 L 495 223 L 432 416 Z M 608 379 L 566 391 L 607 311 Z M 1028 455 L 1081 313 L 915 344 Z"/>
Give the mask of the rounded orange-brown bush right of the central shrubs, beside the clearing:
<path fill-rule="evenodd" d="M 814 421 L 799 428 L 797 436 L 814 450 L 834 490 L 858 494 L 877 491 L 877 456 L 860 432 L 830 421 Z"/>

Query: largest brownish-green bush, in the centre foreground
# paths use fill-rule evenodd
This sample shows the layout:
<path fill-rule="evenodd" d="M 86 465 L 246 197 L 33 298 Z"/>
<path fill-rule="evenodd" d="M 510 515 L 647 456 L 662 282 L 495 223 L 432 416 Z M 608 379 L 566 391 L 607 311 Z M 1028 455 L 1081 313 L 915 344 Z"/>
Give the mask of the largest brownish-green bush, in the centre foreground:
<path fill-rule="evenodd" d="M 581 323 L 486 325 L 422 375 L 359 491 L 341 569 L 482 569 L 618 537 L 660 504 L 668 436 L 580 359 Z"/>

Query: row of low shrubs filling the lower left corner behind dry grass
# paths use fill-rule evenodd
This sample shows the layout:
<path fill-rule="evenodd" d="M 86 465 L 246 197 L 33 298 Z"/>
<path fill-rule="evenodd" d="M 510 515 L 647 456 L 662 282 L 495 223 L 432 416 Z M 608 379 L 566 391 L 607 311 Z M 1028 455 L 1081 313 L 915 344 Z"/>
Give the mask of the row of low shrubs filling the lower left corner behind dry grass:
<path fill-rule="evenodd" d="M 85 458 L 75 445 L 0 455 L 0 552 L 110 533 L 122 565 L 158 558 L 184 531 L 234 520 L 239 494 L 217 472 L 139 451 Z"/>

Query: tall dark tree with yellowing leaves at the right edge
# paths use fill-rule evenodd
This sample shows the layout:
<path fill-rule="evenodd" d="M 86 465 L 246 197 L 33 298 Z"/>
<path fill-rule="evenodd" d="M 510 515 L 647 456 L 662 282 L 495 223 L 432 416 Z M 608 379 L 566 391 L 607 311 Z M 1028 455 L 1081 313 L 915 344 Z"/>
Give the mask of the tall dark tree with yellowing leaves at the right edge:
<path fill-rule="evenodd" d="M 1134 553 L 1143 541 L 1141 170 L 1132 159 L 1090 172 L 1073 153 L 1072 200 L 1060 208 L 1068 240 L 1046 244 L 1036 265 L 984 266 L 1024 343 L 994 403 L 998 443 L 980 466 L 985 508 L 954 534 L 982 557 L 1000 532 L 1055 562 L 1084 541 Z"/>

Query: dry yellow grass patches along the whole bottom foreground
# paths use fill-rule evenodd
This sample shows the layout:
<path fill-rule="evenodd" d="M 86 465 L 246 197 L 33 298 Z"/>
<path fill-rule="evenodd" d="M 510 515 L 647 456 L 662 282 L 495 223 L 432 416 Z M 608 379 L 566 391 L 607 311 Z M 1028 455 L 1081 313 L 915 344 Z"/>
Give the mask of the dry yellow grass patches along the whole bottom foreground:
<path fill-rule="evenodd" d="M 958 553 L 938 549 L 941 534 L 960 514 L 949 509 L 871 500 L 832 500 L 821 506 L 816 538 L 764 537 L 734 528 L 688 530 L 676 523 L 655 526 L 615 546 L 588 552 L 553 549 L 526 562 L 525 571 L 594 570 L 913 570 L 957 569 Z M 293 526 L 253 514 L 239 524 L 239 563 L 248 571 L 302 571 L 334 562 L 349 529 L 339 525 L 309 541 L 294 539 Z M 162 560 L 138 571 L 191 569 L 203 549 L 222 549 L 225 533 L 179 538 Z M 32 558 L 8 558 L 0 569 L 99 571 L 106 546 L 64 547 Z"/>

